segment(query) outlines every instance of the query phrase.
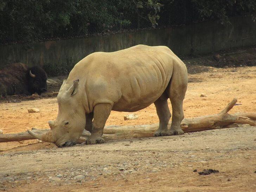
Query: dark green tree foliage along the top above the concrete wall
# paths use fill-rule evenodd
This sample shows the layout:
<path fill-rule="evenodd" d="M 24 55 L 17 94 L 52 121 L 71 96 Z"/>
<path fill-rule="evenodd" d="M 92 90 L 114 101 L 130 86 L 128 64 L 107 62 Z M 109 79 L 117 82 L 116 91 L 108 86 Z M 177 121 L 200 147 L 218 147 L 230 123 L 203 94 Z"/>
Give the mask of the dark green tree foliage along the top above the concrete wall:
<path fill-rule="evenodd" d="M 0 0 L 0 43 L 85 37 L 235 15 L 256 0 Z"/>

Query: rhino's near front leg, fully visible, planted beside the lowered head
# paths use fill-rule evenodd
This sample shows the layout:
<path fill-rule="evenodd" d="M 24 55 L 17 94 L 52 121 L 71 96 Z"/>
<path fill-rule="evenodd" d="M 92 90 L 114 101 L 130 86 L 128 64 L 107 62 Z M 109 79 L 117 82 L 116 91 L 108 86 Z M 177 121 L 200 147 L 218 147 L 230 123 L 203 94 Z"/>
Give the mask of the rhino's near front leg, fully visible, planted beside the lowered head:
<path fill-rule="evenodd" d="M 110 104 L 100 103 L 95 105 L 93 110 L 93 122 L 92 122 L 92 130 L 91 136 L 85 144 L 96 144 L 96 143 L 104 143 L 104 139 L 102 138 L 103 128 L 105 123 L 110 115 L 112 106 Z"/>

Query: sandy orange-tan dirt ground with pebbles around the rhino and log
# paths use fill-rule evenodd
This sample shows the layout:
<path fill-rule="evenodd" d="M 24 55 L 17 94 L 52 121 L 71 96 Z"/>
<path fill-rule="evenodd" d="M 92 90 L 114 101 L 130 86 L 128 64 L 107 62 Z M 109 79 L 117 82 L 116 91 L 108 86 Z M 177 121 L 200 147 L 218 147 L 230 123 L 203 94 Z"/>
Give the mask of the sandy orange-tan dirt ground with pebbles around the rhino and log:
<path fill-rule="evenodd" d="M 215 57 L 221 61 L 222 57 Z M 234 97 L 240 105 L 234 106 L 231 114 L 256 113 L 256 67 L 244 66 L 244 60 L 233 61 L 233 66 L 232 59 L 227 68 L 194 65 L 206 61 L 185 62 L 189 65 L 185 118 L 216 114 Z M 200 97 L 201 94 L 205 97 Z M 28 113 L 28 108 L 38 108 L 40 112 Z M 0 129 L 4 134 L 18 133 L 32 127 L 49 128 L 47 121 L 56 118 L 58 104 L 56 97 L 35 96 L 33 100 L 1 101 L 0 111 Z M 158 123 L 153 104 L 136 112 L 139 119 L 124 121 L 127 114 L 112 111 L 106 125 Z M 37 142 L 0 143 L 1 190 L 256 191 L 256 127 L 63 149 Z M 207 168 L 218 169 L 219 173 L 198 174 Z M 198 172 L 193 172 L 194 169 Z M 58 174 L 59 181 L 54 181 Z M 77 175 L 84 178 L 75 179 Z"/>

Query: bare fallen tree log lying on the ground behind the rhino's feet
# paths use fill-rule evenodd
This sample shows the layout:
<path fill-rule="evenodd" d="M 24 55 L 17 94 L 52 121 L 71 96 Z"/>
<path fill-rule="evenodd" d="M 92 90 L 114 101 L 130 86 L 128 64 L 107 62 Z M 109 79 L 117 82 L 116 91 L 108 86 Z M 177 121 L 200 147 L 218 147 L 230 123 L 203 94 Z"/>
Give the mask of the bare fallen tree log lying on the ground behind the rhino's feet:
<path fill-rule="evenodd" d="M 195 117 L 192 119 L 184 119 L 180 126 L 185 133 L 199 132 L 211 129 L 230 128 L 233 123 L 250 124 L 256 126 L 256 114 L 253 113 L 236 113 L 228 114 L 228 111 L 236 104 L 237 99 L 234 98 L 225 109 L 215 115 L 206 115 Z M 170 124 L 170 122 L 169 122 Z M 102 137 L 106 140 L 118 140 L 129 138 L 152 137 L 154 132 L 158 129 L 158 123 L 150 125 L 136 125 L 136 126 L 107 126 L 104 128 Z M 35 133 L 45 133 L 49 129 L 32 128 Z M 82 136 L 78 139 L 78 143 L 83 143 L 90 133 L 84 130 Z M 14 133 L 1 134 L 0 142 L 23 141 L 34 139 L 29 133 Z"/>

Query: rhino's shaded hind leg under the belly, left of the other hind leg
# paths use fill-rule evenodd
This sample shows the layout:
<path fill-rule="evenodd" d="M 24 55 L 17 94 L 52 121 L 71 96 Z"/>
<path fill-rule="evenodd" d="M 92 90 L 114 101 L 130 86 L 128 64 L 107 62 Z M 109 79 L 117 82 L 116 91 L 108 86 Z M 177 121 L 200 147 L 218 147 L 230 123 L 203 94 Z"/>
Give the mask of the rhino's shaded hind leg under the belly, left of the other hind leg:
<path fill-rule="evenodd" d="M 171 113 L 168 107 L 167 99 L 168 97 L 162 95 L 158 100 L 154 102 L 156 113 L 159 118 L 159 128 L 154 133 L 155 137 L 171 135 L 171 132 L 169 132 L 167 128 L 168 122 L 171 118 Z"/>

